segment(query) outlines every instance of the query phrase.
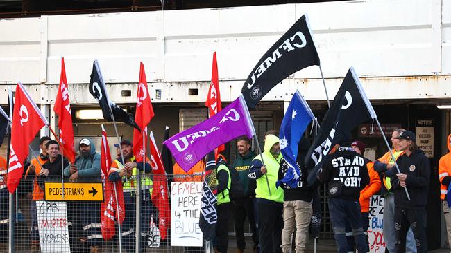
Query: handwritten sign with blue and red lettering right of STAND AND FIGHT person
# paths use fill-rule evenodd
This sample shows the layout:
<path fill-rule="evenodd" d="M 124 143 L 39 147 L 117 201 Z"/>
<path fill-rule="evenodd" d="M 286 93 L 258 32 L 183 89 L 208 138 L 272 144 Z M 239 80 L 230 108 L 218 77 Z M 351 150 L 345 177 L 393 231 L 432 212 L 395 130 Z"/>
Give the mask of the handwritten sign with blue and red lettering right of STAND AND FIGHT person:
<path fill-rule="evenodd" d="M 385 241 L 382 223 L 384 221 L 384 198 L 373 195 L 370 199 L 370 227 L 368 227 L 368 241 L 370 252 L 385 252 Z"/>

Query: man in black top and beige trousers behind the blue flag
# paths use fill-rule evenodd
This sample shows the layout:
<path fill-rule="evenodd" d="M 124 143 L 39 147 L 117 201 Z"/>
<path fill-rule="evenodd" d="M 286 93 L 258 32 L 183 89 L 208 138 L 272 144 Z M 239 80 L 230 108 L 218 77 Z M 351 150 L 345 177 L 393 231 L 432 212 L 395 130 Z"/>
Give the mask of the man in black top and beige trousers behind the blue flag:
<path fill-rule="evenodd" d="M 291 234 L 296 228 L 296 253 L 305 252 L 309 224 L 312 218 L 312 194 L 313 190 L 307 185 L 307 168 L 304 166 L 305 155 L 309 150 L 310 143 L 306 138 L 300 139 L 298 144 L 298 156 L 296 163 L 300 171 L 297 187 L 290 187 L 285 182 L 280 185 L 284 190 L 284 228 L 282 230 L 282 252 L 291 250 Z M 302 167 L 300 166 L 302 165 Z M 278 180 L 284 178 L 289 165 L 282 158 L 279 167 Z"/>

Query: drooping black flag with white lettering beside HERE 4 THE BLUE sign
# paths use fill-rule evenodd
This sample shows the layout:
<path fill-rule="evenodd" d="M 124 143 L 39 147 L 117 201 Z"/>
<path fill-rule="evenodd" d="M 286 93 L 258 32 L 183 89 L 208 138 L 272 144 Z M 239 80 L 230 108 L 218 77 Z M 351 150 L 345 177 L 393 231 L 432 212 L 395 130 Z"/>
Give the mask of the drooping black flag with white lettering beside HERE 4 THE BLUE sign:
<path fill-rule="evenodd" d="M 216 223 L 218 223 L 218 212 L 216 211 L 216 161 L 214 151 L 207 154 L 205 162 L 205 177 L 202 187 L 201 198 L 201 218 L 199 227 L 202 230 L 205 240 L 210 241 L 216 233 Z"/>

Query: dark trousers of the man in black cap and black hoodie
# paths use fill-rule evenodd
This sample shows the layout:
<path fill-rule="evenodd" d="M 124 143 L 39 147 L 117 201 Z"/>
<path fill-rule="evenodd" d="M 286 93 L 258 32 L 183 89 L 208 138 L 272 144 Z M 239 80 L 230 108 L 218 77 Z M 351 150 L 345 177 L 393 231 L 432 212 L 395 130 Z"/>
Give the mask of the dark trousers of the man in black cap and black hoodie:
<path fill-rule="evenodd" d="M 426 210 L 395 207 L 396 249 L 406 252 L 406 237 L 409 227 L 414 232 L 416 252 L 427 252 Z"/>

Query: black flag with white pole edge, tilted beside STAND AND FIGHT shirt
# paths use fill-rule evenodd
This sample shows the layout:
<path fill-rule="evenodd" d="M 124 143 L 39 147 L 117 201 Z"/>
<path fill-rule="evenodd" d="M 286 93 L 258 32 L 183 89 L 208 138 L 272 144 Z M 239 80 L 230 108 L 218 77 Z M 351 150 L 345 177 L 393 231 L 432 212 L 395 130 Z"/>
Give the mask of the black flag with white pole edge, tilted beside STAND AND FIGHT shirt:
<path fill-rule="evenodd" d="M 357 127 L 357 124 L 375 118 L 377 117 L 373 106 L 366 97 L 354 68 L 351 67 L 334 97 L 332 106 L 325 114 L 312 147 L 305 156 L 305 166 L 309 168 L 307 183 L 314 185 L 325 156 L 335 144 L 349 136 L 350 131 Z"/>

